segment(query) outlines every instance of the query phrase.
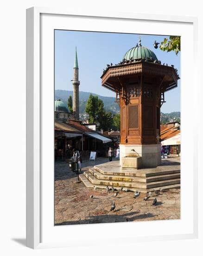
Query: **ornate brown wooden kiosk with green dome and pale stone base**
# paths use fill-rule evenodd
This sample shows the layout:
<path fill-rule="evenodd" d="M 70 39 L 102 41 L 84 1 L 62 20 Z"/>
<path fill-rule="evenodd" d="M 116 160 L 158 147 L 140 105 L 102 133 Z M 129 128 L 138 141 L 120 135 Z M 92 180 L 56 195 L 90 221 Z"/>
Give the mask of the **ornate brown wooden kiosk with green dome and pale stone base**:
<path fill-rule="evenodd" d="M 121 108 L 120 156 L 136 152 L 142 167 L 156 167 L 161 163 L 160 107 L 164 93 L 177 87 L 177 70 L 162 65 L 141 40 L 120 63 L 107 66 L 101 80 Z"/>

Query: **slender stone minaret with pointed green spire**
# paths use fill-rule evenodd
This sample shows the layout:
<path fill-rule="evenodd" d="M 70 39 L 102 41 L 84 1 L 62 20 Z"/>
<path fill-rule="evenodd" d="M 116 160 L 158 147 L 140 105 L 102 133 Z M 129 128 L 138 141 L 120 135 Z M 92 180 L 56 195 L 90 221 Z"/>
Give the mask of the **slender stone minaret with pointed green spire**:
<path fill-rule="evenodd" d="M 74 63 L 74 78 L 72 81 L 73 84 L 73 114 L 75 115 L 75 119 L 79 120 L 79 85 L 80 81 L 78 81 L 78 63 L 77 63 L 77 49 L 76 49 L 76 57 Z"/>

